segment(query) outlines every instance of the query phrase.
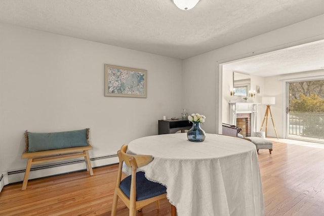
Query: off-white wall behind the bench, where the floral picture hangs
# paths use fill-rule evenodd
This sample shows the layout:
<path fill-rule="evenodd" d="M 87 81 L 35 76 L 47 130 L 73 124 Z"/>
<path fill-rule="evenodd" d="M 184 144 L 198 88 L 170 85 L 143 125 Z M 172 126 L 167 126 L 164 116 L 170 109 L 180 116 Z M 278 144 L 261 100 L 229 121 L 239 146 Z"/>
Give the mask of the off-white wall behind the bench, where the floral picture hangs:
<path fill-rule="evenodd" d="M 0 174 L 24 169 L 24 131 L 90 127 L 90 156 L 157 135 L 182 112 L 182 61 L 62 35 L 0 25 Z M 104 64 L 147 70 L 147 98 L 104 97 Z"/>

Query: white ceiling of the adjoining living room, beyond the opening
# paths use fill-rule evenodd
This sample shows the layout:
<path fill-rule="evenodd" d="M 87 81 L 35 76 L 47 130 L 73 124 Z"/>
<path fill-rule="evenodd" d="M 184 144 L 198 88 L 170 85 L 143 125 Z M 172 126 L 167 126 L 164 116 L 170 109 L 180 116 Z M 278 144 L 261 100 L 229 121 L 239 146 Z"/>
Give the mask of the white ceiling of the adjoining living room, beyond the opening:
<path fill-rule="evenodd" d="M 324 40 L 242 59 L 223 67 L 258 76 L 324 69 Z"/>

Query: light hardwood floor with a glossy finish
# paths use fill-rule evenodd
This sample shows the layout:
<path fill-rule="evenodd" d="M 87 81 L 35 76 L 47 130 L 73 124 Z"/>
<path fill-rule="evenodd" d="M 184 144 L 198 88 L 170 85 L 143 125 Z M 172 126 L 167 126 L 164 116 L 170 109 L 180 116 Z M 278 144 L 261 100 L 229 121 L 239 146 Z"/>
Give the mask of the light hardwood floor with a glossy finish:
<path fill-rule="evenodd" d="M 259 151 L 265 215 L 324 215 L 324 149 L 273 142 Z M 110 215 L 116 165 L 7 185 L 0 193 L 0 215 Z M 168 200 L 137 215 L 171 215 Z M 117 215 L 128 215 L 119 201 Z M 197 215 L 199 216 L 199 215 Z"/>

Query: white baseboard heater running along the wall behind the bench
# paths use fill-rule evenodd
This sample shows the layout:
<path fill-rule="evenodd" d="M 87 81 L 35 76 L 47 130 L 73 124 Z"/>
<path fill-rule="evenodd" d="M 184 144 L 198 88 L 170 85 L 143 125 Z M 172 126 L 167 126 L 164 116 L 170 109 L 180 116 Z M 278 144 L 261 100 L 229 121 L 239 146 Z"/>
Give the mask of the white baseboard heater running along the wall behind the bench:
<path fill-rule="evenodd" d="M 93 168 L 111 165 L 119 162 L 118 156 L 116 154 L 91 158 L 90 161 Z M 57 163 L 39 165 L 31 167 L 28 180 L 56 176 L 85 169 L 86 163 L 84 159 L 60 161 Z M 24 175 L 25 169 L 8 171 L 7 176 L 3 175 L 4 185 L 22 182 L 24 179 Z"/>

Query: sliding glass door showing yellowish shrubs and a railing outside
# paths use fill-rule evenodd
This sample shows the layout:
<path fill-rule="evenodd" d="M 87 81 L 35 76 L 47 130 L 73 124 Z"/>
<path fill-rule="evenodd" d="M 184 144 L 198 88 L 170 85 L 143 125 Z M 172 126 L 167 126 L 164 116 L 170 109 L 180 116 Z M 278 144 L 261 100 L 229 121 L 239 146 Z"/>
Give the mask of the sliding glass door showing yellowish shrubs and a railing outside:
<path fill-rule="evenodd" d="M 287 85 L 288 138 L 324 143 L 324 80 Z"/>

